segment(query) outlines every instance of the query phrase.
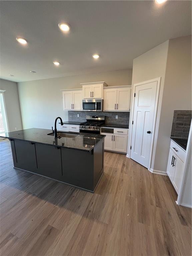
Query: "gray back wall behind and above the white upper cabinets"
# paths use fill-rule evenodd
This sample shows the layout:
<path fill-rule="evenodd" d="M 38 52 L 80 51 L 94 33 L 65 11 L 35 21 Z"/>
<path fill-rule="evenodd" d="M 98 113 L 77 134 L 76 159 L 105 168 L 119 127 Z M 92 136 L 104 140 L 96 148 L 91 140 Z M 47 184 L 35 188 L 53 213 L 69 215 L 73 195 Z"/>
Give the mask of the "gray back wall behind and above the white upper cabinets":
<path fill-rule="evenodd" d="M 108 86 L 130 85 L 132 69 L 84 74 L 18 83 L 23 128 L 51 128 L 55 117 L 68 120 L 61 89 L 81 88 L 80 83 L 105 81 Z"/>

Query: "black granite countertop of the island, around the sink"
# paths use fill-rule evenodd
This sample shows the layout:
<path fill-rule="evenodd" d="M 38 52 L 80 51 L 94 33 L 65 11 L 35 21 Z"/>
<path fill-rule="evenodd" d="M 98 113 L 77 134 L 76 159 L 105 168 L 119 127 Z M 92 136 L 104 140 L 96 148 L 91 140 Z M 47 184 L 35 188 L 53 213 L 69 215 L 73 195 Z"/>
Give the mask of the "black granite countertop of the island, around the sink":
<path fill-rule="evenodd" d="M 52 130 L 48 129 L 30 128 L 15 132 L 6 132 L 5 136 L 0 135 L 0 137 L 16 140 L 26 140 L 40 144 L 59 146 L 87 152 L 91 151 L 94 146 L 105 137 L 105 135 L 101 134 L 73 133 L 78 134 L 78 136 L 74 138 L 54 138 L 54 136 L 47 135 L 51 132 Z"/>

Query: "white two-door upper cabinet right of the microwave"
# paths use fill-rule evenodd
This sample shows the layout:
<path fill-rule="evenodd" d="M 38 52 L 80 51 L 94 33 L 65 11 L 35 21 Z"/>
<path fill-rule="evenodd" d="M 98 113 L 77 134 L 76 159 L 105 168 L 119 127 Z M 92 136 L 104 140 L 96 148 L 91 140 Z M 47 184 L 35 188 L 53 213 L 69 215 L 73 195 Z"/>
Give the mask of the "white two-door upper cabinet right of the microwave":
<path fill-rule="evenodd" d="M 103 91 L 104 111 L 130 111 L 131 86 L 108 87 Z"/>

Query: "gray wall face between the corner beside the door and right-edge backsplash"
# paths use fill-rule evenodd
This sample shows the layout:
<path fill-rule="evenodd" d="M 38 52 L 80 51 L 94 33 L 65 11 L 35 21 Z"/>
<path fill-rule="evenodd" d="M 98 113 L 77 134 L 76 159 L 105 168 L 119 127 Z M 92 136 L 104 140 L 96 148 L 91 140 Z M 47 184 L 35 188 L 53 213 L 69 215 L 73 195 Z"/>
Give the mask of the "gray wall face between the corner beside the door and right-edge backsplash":
<path fill-rule="evenodd" d="M 169 40 L 155 170 L 167 168 L 174 110 L 191 110 L 191 36 Z"/>

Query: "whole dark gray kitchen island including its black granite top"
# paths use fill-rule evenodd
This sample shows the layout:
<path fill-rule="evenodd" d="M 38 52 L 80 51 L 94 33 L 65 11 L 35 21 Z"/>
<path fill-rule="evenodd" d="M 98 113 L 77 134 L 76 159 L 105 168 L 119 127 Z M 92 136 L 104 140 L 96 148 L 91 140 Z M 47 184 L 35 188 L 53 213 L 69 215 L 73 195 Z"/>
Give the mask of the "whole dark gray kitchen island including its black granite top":
<path fill-rule="evenodd" d="M 105 136 L 54 138 L 49 133 L 32 128 L 1 136 L 11 142 L 14 168 L 94 192 L 104 171 Z"/>

